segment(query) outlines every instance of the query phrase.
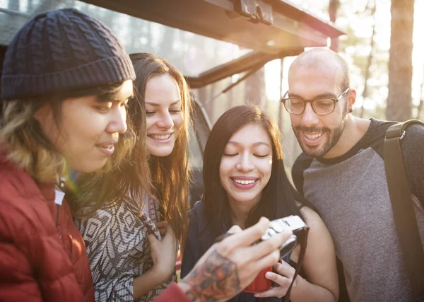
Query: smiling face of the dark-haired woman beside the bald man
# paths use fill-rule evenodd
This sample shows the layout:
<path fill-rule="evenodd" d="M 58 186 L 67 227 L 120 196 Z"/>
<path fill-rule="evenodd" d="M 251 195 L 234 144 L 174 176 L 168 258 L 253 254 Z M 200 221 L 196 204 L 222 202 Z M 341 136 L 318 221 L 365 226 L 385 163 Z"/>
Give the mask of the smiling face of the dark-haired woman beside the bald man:
<path fill-rule="evenodd" d="M 232 207 L 252 209 L 269 182 L 272 147 L 259 124 L 247 124 L 225 146 L 220 161 L 220 182 Z"/>

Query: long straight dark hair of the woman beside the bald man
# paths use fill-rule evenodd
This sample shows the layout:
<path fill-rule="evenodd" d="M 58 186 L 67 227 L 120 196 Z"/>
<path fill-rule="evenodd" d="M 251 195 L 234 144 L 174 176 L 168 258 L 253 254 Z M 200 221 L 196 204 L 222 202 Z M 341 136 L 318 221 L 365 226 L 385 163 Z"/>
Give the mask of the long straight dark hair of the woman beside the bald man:
<path fill-rule="evenodd" d="M 232 225 L 227 193 L 220 181 L 220 161 L 230 138 L 247 124 L 259 124 L 269 134 L 272 145 L 271 178 L 261 199 L 247 216 L 245 227 L 257 223 L 261 216 L 270 220 L 289 215 L 303 216 L 296 201 L 304 202 L 287 178 L 283 163 L 281 134 L 275 120 L 256 106 L 231 108 L 218 119 L 211 130 L 204 152 L 204 219 L 206 233 L 216 238 Z"/>

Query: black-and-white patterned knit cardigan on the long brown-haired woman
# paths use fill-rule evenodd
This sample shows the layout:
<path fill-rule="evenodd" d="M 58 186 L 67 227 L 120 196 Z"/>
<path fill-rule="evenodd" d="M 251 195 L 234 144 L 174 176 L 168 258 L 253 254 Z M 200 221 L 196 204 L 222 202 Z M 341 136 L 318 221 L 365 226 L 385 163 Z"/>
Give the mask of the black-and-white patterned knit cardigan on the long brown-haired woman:
<path fill-rule="evenodd" d="M 133 280 L 153 267 L 147 236 L 160 240 L 155 223 L 158 202 L 148 198 L 149 216 L 125 200 L 114 207 L 100 209 L 89 219 L 76 219 L 86 243 L 95 289 L 95 301 L 134 301 Z M 152 301 L 176 280 L 170 279 L 143 295 L 139 301 Z"/>

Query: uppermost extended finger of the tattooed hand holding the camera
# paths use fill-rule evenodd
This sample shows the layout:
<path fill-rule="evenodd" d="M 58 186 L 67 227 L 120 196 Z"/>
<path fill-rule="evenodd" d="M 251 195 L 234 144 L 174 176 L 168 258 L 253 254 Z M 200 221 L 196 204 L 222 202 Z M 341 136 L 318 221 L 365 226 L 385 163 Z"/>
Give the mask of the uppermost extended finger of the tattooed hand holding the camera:
<path fill-rule="evenodd" d="M 233 226 L 234 227 L 234 226 Z M 246 228 L 245 231 L 237 233 L 233 236 L 227 237 L 218 245 L 217 250 L 221 255 L 227 255 L 227 253 L 240 246 L 249 246 L 256 242 L 264 235 L 266 228 L 269 227 L 269 219 L 261 217 L 258 223 L 250 228 Z M 262 253 L 261 255 L 265 255 Z"/>

